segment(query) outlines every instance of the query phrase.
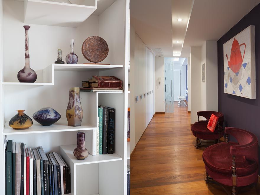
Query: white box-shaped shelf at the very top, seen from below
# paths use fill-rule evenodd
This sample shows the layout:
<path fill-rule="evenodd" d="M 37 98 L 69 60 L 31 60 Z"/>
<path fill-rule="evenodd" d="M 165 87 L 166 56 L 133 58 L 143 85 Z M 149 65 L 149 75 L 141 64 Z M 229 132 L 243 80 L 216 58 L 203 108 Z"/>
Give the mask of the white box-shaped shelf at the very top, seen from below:
<path fill-rule="evenodd" d="M 97 0 L 87 2 L 88 5 L 79 5 L 24 0 L 24 23 L 78 27 L 97 9 Z"/>

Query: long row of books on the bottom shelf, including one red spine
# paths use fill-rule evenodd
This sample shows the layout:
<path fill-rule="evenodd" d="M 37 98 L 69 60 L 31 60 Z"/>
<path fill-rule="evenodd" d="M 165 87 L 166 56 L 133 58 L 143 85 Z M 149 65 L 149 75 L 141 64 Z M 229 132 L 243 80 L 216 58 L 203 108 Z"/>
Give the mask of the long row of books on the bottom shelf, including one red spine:
<path fill-rule="evenodd" d="M 31 149 L 8 140 L 6 146 L 6 195 L 69 194 L 70 169 L 56 152 Z"/>

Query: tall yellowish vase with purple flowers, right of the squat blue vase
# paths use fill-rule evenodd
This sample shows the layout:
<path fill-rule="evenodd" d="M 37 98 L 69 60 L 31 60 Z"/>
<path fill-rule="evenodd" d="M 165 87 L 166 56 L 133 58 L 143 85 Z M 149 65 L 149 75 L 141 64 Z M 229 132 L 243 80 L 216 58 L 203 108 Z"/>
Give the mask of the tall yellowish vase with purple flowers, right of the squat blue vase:
<path fill-rule="evenodd" d="M 79 87 L 69 89 L 69 103 L 66 110 L 66 118 L 69 126 L 81 126 L 83 110 L 80 103 Z"/>

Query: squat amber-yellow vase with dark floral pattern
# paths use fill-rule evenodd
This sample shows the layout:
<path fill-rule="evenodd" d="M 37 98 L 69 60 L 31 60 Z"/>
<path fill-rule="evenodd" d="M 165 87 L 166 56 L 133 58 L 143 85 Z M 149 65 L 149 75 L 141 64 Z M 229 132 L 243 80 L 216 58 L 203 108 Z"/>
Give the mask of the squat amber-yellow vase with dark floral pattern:
<path fill-rule="evenodd" d="M 18 114 L 11 118 L 11 120 L 9 121 L 10 127 L 17 130 L 23 130 L 28 129 L 30 126 L 32 126 L 32 119 L 27 116 L 24 111 L 25 110 L 17 110 Z"/>

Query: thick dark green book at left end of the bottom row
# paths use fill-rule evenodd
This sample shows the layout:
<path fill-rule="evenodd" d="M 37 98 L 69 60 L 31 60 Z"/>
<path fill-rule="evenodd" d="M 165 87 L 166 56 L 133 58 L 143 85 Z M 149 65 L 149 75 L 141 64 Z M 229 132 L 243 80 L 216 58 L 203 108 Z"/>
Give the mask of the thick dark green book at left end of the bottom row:
<path fill-rule="evenodd" d="M 12 140 L 6 146 L 6 195 L 12 195 Z"/>

